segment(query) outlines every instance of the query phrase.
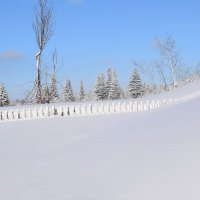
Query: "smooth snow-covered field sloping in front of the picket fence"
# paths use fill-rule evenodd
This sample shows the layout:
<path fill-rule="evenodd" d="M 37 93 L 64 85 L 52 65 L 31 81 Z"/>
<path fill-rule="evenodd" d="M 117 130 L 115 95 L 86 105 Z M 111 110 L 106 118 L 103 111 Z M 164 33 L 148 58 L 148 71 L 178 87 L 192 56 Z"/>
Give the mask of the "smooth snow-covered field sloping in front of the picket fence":
<path fill-rule="evenodd" d="M 180 101 L 1 123 L 0 199 L 199 200 L 200 82 L 161 96 Z"/>

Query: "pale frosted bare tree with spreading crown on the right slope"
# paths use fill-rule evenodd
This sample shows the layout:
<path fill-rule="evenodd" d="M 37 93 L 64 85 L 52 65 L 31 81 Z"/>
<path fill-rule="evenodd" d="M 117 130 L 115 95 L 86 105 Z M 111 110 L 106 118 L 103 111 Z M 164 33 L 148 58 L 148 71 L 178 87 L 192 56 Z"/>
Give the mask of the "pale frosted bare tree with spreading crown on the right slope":
<path fill-rule="evenodd" d="M 156 38 L 156 48 L 160 55 L 168 62 L 170 67 L 173 86 L 177 86 L 177 73 L 179 63 L 179 52 L 176 51 L 176 43 L 172 36 L 169 35 L 164 41 Z"/>

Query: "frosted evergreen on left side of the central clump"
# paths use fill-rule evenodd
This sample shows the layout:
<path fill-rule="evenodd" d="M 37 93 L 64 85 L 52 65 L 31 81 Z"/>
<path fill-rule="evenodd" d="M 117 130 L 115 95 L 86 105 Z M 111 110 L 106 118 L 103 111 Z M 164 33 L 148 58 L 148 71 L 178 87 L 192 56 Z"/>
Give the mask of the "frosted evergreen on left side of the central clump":
<path fill-rule="evenodd" d="M 95 95 L 96 95 L 96 100 L 106 99 L 106 82 L 104 74 L 97 76 Z"/>

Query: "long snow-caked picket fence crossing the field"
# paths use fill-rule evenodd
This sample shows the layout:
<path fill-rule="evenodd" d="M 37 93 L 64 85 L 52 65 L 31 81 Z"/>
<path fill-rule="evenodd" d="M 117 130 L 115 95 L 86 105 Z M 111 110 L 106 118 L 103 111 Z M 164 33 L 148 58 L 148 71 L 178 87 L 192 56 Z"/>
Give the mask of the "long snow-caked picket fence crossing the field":
<path fill-rule="evenodd" d="M 157 100 L 157 101 L 131 101 L 131 102 L 111 102 L 95 103 L 85 105 L 43 105 L 13 110 L 0 110 L 0 122 L 21 119 L 36 119 L 55 116 L 81 116 L 98 115 L 109 113 L 130 113 L 139 111 L 149 111 L 176 102 L 176 99 Z"/>

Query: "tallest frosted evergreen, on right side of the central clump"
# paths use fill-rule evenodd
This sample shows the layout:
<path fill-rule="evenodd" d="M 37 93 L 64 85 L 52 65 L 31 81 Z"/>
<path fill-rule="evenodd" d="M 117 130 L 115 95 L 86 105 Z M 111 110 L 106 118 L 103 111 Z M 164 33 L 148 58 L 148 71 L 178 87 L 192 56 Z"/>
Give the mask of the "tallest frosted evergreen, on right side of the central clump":
<path fill-rule="evenodd" d="M 117 79 L 117 73 L 115 70 L 111 71 L 111 82 L 109 84 L 110 85 L 109 85 L 108 99 L 111 99 L 111 100 L 119 99 L 120 87 L 119 87 L 119 83 Z"/>

